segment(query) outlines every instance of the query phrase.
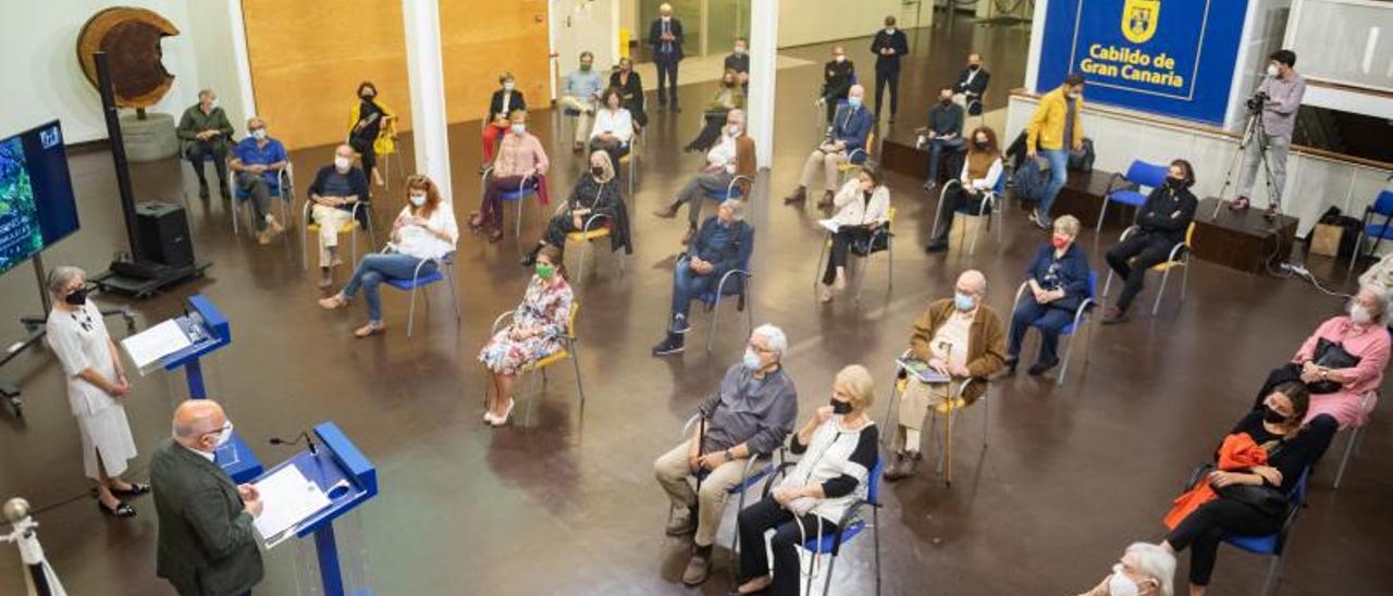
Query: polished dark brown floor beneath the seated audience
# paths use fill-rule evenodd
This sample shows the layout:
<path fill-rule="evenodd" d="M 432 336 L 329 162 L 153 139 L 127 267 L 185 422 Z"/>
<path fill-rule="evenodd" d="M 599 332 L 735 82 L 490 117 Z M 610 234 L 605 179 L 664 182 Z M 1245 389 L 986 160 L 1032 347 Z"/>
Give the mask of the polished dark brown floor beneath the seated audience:
<path fill-rule="evenodd" d="M 859 49 L 868 42 L 862 42 L 850 46 L 868 68 L 871 57 Z M 1025 54 L 1025 33 L 972 29 L 964 22 L 921 32 L 911 43 L 915 71 L 907 78 L 929 89 L 907 92 L 907 100 L 912 95 L 917 104 L 907 102 L 901 110 L 922 109 L 932 85 L 956 72 L 968 43 L 988 50 L 989 67 L 1021 61 Z M 826 49 L 791 53 L 820 58 Z M 997 68 L 1003 70 L 1010 67 Z M 921 181 L 892 177 L 900 209 L 893 291 L 886 291 L 885 262 L 878 260 L 861 306 L 848 301 L 818 305 L 812 280 L 820 216 L 786 207 L 779 198 L 793 187 L 816 141 L 811 97 L 820 75 L 818 67 L 802 67 L 779 77 L 775 163 L 761 177 L 751 209 L 759 230 L 755 319 L 787 330 L 786 365 L 801 389 L 804 414 L 826 401 L 840 366 L 862 362 L 880 376 L 879 419 L 892 358 L 904 348 L 910 322 L 924 305 L 951 292 L 960 270 L 978 267 L 990 279 L 988 302 L 1007 311 L 1027 259 L 1045 238 L 1013 209 L 1004 217 L 1003 241 L 983 240 L 975 255 L 925 256 L 919 245 L 935 199 L 919 189 Z M 1015 81 L 999 77 L 993 89 L 1020 84 L 1018 75 Z M 343 535 L 362 553 L 375 593 L 691 593 L 678 582 L 687 546 L 663 536 L 667 504 L 651 464 L 678 440 L 683 421 L 719 373 L 740 358 L 742 323 L 727 305 L 716 315 L 723 329 L 710 354 L 690 350 L 664 359 L 648 354 L 662 334 L 671 255 L 683 231 L 681 223 L 657 220 L 649 212 L 699 166 L 699 157 L 677 148 L 695 134 L 696 106 L 710 88 L 695 85 L 683 93 L 687 111 L 653 114 L 638 194 L 630 198 L 637 251 L 627 273 L 621 277 L 613 255 L 600 251 L 598 266 L 586 267 L 593 276 L 586 273 L 578 290 L 581 372 L 589 397 L 584 418 L 571 369 L 560 366 L 539 398 L 532 428 L 492 430 L 479 419 L 483 376 L 475 355 L 493 316 L 517 304 L 527 281 L 511 237 L 499 245 L 479 237 L 462 240 L 456 280 L 461 324 L 449 316 L 449 294 L 435 287 L 429 316 L 417 322 L 417 334 L 408 340 L 405 295 L 389 291 L 390 331 L 354 340 L 361 308 L 323 312 L 315 306 L 320 292 L 312 276 L 299 270 L 298 241 L 258 246 L 247 235 L 234 237 L 227 205 L 195 195 L 189 198 L 194 240 L 199 256 L 215 263 L 208 279 L 143 302 L 96 298 L 128 305 L 142 326 L 178 313 L 191 292 L 203 292 L 221 306 L 234 341 L 209 359 L 210 389 L 263 461 L 290 454 L 265 444 L 265 437 L 320 421 L 336 421 L 358 443 L 378 465 L 382 494 L 351 518 Z M 1004 100 L 1004 93 L 996 97 Z M 552 139 L 560 123 L 549 123 L 549 116 L 538 114 L 534 130 Z M 478 201 L 476 134 L 475 123 L 451 128 L 454 210 L 461 217 Z M 559 149 L 554 187 L 568 188 L 581 162 L 564 142 L 550 146 Z M 294 152 L 302 180 L 329 155 L 327 148 Z M 82 231 L 46 253 L 46 260 L 98 272 L 124 246 L 114 175 L 104 153 L 71 162 Z M 132 173 L 141 201 L 180 201 L 194 189 L 187 166 L 173 160 L 138 164 Z M 390 206 L 379 209 L 379 223 L 401 201 L 400 187 L 393 188 L 383 194 L 380 202 Z M 528 242 L 539 234 L 539 221 L 529 210 Z M 1105 233 L 1109 241 L 1116 234 Z M 1095 238 L 1085 233 L 1081 242 L 1092 246 Z M 568 253 L 573 269 L 578 253 Z M 1102 265 L 1098 253 L 1092 260 L 1095 267 Z M 1142 299 L 1152 291 L 1155 283 Z M 21 267 L 0 277 L 0 319 L 35 312 L 39 301 L 31 272 Z M 1081 341 L 1063 386 L 1024 373 L 996 382 L 988 398 L 988 437 L 981 434 L 983 408 L 963 414 L 951 487 L 932 472 L 886 487 L 880 511 L 885 593 L 1059 595 L 1094 586 L 1128 542 L 1162 536 L 1160 517 L 1187 472 L 1244 414 L 1266 370 L 1341 308 L 1339 298 L 1298 281 L 1202 262 L 1194 265 L 1184 304 L 1176 298 L 1178 292 L 1172 292 L 1156 317 L 1138 312 L 1126 326 L 1098 327 L 1091 340 Z M 708 322 L 705 313 L 695 317 L 701 343 Z M 116 336 L 124 333 L 114 322 L 111 327 Z M 20 337 L 17 324 L 4 329 L 6 341 Z M 1034 344 L 1027 344 L 1027 358 Z M 150 500 L 134 503 L 139 517 L 111 521 L 86 496 L 57 362 L 33 351 L 0 369 L 0 376 L 21 383 L 26 400 L 24 419 L 0 414 L 0 496 L 25 496 L 40 508 L 40 538 L 68 592 L 173 593 L 153 574 Z M 152 373 L 135 383 L 128 414 L 142 454 L 130 476 L 141 479 L 153 447 L 169 433 L 182 380 Z M 1341 489 L 1332 490 L 1330 480 L 1347 434 L 1337 437 L 1316 472 L 1311 505 L 1289 544 L 1282 593 L 1387 593 L 1393 518 L 1386 517 L 1386 507 L 1393 496 L 1393 464 L 1382 455 L 1393 448 L 1393 439 L 1387 408 L 1379 409 Z M 983 439 L 989 448 L 983 450 Z M 723 543 L 731 517 L 727 511 Z M 871 547 L 869 536 L 848 544 L 834 593 L 872 592 Z M 267 553 L 267 578 L 258 593 L 295 593 L 302 574 L 297 570 L 308 553 L 295 544 Z M 1265 570 L 1266 560 L 1224 547 L 1212 593 L 1254 593 Z M 726 571 L 719 557 L 712 579 L 698 592 L 724 593 Z M 20 574 L 17 557 L 0 553 L 0 593 L 21 593 Z"/>

